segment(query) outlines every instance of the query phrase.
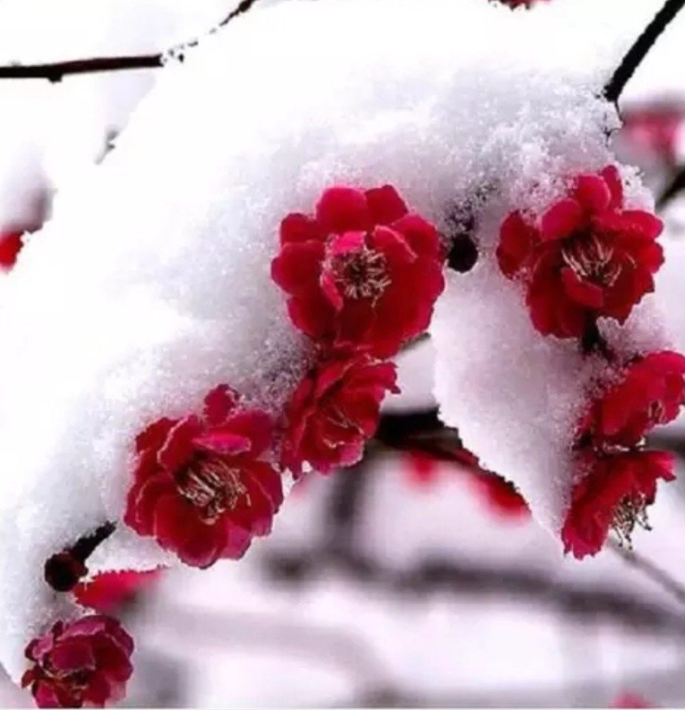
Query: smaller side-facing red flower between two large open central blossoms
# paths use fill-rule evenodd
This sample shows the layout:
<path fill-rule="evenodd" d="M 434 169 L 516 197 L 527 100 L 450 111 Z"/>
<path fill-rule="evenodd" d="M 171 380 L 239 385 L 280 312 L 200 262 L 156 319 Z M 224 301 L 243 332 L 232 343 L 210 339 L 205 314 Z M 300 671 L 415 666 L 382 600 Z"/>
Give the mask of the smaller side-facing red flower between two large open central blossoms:
<path fill-rule="evenodd" d="M 304 463 L 322 474 L 356 464 L 385 393 L 399 392 L 396 378 L 394 364 L 368 354 L 335 355 L 313 368 L 288 404 L 282 464 L 296 476 Z"/>

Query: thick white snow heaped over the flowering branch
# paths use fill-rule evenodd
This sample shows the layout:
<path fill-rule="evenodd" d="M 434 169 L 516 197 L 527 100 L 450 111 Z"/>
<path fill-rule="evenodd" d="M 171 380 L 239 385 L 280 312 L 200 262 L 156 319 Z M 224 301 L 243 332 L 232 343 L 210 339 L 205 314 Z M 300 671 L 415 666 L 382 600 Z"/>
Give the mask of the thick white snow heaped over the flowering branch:
<path fill-rule="evenodd" d="M 610 160 L 615 119 L 593 92 L 625 47 L 624 6 L 292 0 L 161 72 L 117 148 L 63 190 L 0 283 L 0 660 L 14 677 L 28 639 L 63 613 L 43 561 L 119 518 L 136 432 L 221 381 L 279 410 L 305 351 L 269 279 L 278 224 L 335 182 L 391 182 L 441 226 L 487 197 L 482 264 L 450 277 L 439 308 L 438 393 L 466 443 L 487 464 L 499 456 L 536 512 L 558 515 L 563 481 L 549 484 L 555 513 L 525 477 L 561 470 L 551 437 L 563 437 L 580 364 L 534 338 L 515 287 L 495 278 L 492 239 L 509 207 L 559 194 L 552 178 Z M 488 376 L 469 386 L 480 364 Z M 119 530 L 97 559 L 165 558 Z"/>

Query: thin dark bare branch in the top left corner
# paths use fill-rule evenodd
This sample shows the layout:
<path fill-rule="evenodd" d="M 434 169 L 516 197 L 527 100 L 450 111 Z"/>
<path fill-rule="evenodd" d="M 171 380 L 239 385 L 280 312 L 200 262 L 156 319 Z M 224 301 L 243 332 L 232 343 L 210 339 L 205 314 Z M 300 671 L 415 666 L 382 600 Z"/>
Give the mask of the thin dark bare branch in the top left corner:
<path fill-rule="evenodd" d="M 220 28 L 225 27 L 230 21 L 247 12 L 258 0 L 242 0 L 217 26 L 207 32 L 215 34 Z M 64 77 L 82 74 L 95 74 L 98 72 L 119 72 L 125 70 L 156 69 L 163 67 L 166 57 L 176 56 L 183 58 L 185 50 L 193 48 L 200 43 L 200 38 L 184 42 L 166 52 L 145 55 L 131 55 L 124 57 L 95 57 L 90 59 L 77 59 L 66 62 L 53 62 L 46 64 L 21 65 L 14 64 L 0 67 L 0 79 L 45 79 L 49 82 L 60 82 Z"/>

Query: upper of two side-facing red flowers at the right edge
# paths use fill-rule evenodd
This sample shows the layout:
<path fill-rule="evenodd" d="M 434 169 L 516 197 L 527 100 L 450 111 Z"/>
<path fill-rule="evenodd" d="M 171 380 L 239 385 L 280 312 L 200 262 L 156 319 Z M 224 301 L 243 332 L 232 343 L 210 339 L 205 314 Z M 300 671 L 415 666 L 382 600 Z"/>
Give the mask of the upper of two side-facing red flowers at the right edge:
<path fill-rule="evenodd" d="M 657 425 L 674 420 L 685 404 L 685 357 L 652 353 L 627 367 L 597 400 L 587 423 L 595 445 L 632 447 Z"/>

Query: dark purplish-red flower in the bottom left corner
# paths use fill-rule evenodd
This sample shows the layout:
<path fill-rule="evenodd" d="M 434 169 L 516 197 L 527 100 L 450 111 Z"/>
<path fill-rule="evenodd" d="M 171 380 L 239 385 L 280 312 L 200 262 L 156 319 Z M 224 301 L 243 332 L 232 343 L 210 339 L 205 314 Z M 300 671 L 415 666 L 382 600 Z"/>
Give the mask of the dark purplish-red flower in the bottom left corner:
<path fill-rule="evenodd" d="M 38 707 L 104 707 L 124 697 L 131 677 L 134 643 L 108 616 L 58 621 L 26 647 L 31 667 L 22 687 L 30 687 Z"/>

